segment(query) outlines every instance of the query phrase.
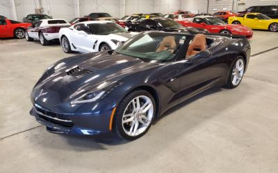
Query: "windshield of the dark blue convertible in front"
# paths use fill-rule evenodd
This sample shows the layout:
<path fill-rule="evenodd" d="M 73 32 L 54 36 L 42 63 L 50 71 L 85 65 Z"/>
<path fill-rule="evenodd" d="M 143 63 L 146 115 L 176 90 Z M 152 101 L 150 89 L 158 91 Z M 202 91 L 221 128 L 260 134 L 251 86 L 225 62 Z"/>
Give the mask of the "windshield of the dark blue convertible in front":
<path fill-rule="evenodd" d="M 116 53 L 138 57 L 145 62 L 174 61 L 187 35 L 172 33 L 141 33 L 115 50 Z"/>

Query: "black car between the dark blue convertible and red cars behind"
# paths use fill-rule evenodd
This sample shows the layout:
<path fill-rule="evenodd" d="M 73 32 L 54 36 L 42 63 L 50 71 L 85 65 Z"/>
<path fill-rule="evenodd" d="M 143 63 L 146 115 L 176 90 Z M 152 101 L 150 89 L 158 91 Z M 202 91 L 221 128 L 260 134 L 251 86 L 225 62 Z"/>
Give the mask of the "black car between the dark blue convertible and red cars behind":
<path fill-rule="evenodd" d="M 208 30 L 202 28 L 184 27 L 177 21 L 162 17 L 155 19 L 142 19 L 136 22 L 127 22 L 126 27 L 129 28 L 129 32 L 163 30 L 165 32 L 208 33 Z"/>

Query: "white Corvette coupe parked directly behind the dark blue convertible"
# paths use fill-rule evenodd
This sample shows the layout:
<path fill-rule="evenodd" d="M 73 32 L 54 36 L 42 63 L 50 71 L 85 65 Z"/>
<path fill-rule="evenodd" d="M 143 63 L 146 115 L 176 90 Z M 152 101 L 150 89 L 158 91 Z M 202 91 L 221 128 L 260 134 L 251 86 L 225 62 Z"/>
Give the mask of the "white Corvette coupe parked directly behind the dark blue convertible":
<path fill-rule="evenodd" d="M 115 50 L 131 37 L 132 34 L 113 21 L 84 21 L 70 28 L 61 28 L 59 32 L 65 53 Z"/>

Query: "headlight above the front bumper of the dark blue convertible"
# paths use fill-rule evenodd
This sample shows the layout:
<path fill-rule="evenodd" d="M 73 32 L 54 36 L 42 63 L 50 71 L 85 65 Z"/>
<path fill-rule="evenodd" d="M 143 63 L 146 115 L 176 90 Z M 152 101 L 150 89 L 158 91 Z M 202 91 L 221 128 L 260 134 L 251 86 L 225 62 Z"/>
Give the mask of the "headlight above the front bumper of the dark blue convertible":
<path fill-rule="evenodd" d="M 71 104 L 83 104 L 87 102 L 97 102 L 101 100 L 102 98 L 106 97 L 109 93 L 111 93 L 117 86 L 120 86 L 123 82 L 102 82 L 97 86 L 95 91 L 89 91 L 88 93 L 85 93 L 81 96 L 81 98 L 78 98 L 71 102 Z"/>

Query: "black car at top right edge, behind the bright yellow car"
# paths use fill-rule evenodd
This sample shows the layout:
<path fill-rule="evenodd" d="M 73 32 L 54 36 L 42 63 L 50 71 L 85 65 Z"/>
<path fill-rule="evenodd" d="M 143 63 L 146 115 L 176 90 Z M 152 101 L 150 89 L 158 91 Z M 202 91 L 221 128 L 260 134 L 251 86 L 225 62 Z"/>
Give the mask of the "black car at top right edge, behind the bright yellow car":
<path fill-rule="evenodd" d="M 244 14 L 248 12 L 260 12 L 263 15 L 267 15 L 272 19 L 278 18 L 278 6 L 251 6 L 250 8 L 247 8 L 245 11 L 238 13 Z"/>

